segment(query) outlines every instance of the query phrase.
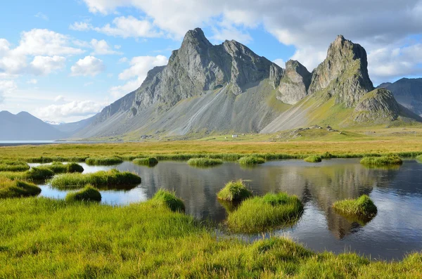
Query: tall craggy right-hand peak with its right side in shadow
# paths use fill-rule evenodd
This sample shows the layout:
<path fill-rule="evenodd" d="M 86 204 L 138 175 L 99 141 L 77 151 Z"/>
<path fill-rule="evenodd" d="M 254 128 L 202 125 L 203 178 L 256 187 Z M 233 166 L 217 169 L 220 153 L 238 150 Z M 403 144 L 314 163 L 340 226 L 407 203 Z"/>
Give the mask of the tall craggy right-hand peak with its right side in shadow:
<path fill-rule="evenodd" d="M 352 108 L 372 90 L 365 49 L 340 35 L 328 48 L 324 62 L 312 72 L 308 93 L 324 91 L 325 97 L 335 96 L 335 103 Z"/>

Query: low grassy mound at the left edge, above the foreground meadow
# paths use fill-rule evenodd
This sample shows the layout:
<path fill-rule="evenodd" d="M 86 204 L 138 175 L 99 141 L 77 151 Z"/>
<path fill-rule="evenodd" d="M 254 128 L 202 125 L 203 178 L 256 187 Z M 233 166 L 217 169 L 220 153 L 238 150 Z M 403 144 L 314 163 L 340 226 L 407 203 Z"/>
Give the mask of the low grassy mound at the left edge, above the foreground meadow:
<path fill-rule="evenodd" d="M 13 181 L 0 177 L 0 198 L 10 197 L 30 197 L 32 195 L 38 195 L 41 193 L 41 189 L 32 183 L 24 181 Z"/>

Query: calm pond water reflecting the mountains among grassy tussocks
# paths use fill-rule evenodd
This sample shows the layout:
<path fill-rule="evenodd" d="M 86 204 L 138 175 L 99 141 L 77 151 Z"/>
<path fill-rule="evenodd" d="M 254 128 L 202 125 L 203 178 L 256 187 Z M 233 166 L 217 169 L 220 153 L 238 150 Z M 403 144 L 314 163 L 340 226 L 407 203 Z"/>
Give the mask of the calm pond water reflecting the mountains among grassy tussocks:
<path fill-rule="evenodd" d="M 90 167 L 86 172 L 113 167 Z M 243 169 L 236 163 L 197 169 L 186 162 L 160 162 L 141 167 L 132 162 L 114 166 L 134 171 L 142 183 L 127 191 L 101 191 L 104 203 L 127 205 L 145 201 L 160 188 L 175 190 L 186 205 L 186 213 L 197 219 L 223 222 L 226 210 L 217 192 L 228 181 L 243 179 L 257 195 L 285 191 L 298 195 L 305 212 L 293 228 L 273 232 L 287 235 L 314 251 L 352 251 L 371 259 L 402 259 L 422 251 L 422 164 L 407 160 L 397 169 L 367 169 L 355 159 L 324 160 L 319 164 L 302 160 L 267 162 Z M 41 186 L 42 196 L 65 197 L 66 191 Z M 336 200 L 367 194 L 378 207 L 376 217 L 360 225 L 333 212 Z M 268 236 L 268 235 L 267 235 Z M 245 240 L 262 234 L 239 235 Z"/>

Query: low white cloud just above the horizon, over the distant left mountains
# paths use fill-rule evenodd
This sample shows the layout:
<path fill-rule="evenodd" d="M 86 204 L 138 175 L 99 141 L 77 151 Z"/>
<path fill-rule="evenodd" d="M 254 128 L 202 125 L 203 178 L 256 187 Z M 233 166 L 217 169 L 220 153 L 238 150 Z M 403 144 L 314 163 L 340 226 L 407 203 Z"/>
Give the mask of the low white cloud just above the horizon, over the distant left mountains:
<path fill-rule="evenodd" d="M 74 117 L 89 117 L 100 112 L 107 102 L 95 102 L 92 100 L 73 100 L 60 105 L 53 104 L 44 108 L 38 108 L 34 115 L 41 119 L 69 119 Z"/>

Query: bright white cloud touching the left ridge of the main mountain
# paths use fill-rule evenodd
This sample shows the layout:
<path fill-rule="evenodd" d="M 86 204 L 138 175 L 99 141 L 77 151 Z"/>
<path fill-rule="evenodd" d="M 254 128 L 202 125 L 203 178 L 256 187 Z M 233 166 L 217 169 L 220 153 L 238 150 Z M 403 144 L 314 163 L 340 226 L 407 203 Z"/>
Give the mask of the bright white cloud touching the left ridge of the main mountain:
<path fill-rule="evenodd" d="M 119 74 L 119 79 L 129 80 L 121 86 L 113 86 L 110 93 L 114 98 L 119 98 L 141 86 L 146 74 L 153 67 L 167 65 L 165 56 L 138 56 L 132 58 L 130 67 Z"/>

